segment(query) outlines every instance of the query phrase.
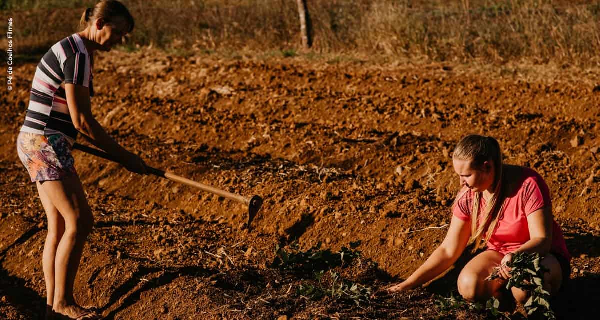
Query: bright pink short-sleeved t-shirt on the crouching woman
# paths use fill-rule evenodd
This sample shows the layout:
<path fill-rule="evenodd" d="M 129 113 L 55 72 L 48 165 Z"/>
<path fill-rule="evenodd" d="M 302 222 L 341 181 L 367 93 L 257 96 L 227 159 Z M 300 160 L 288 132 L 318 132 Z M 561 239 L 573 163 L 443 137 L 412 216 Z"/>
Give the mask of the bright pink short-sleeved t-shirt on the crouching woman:
<path fill-rule="evenodd" d="M 537 172 L 523 168 L 523 176 L 519 183 L 516 191 L 506 198 L 505 207 L 499 213 L 500 220 L 487 243 L 488 249 L 496 250 L 503 255 L 514 252 L 529 241 L 529 224 L 527 223 L 529 214 L 544 207 L 552 207 L 550 190 Z M 471 220 L 474 195 L 473 191 L 468 190 L 458 199 L 453 210 L 455 217 L 463 221 Z M 479 212 L 483 212 L 484 208 L 485 199 L 481 197 Z M 552 226 L 551 252 L 571 260 L 571 254 L 566 249 L 565 238 L 559 225 L 553 220 Z"/>

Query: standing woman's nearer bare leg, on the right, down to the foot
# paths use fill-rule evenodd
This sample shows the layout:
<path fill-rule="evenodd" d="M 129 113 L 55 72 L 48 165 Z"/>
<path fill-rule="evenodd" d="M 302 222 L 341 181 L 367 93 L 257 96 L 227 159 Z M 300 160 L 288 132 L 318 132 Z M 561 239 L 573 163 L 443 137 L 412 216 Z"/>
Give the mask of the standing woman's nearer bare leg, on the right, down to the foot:
<path fill-rule="evenodd" d="M 46 181 L 41 184 L 41 189 L 65 221 L 65 231 L 56 250 L 54 310 L 69 316 L 80 315 L 85 309 L 76 305 L 73 287 L 94 217 L 77 175 Z"/>

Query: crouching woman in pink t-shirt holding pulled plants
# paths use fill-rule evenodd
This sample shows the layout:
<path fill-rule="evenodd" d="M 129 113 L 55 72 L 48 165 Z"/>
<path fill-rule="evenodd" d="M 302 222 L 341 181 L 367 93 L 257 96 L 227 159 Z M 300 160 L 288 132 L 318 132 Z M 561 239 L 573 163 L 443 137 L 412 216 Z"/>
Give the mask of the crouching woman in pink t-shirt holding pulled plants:
<path fill-rule="evenodd" d="M 545 273 L 544 288 L 556 295 L 571 274 L 571 255 L 560 227 L 554 222 L 550 191 L 535 171 L 502 163 L 500 145 L 493 137 L 467 136 L 452 156 L 462 190 L 453 205 L 445 240 L 406 281 L 388 292 L 406 291 L 433 280 L 448 270 L 466 249 L 484 247 L 458 276 L 458 292 L 469 301 L 502 298 L 515 253 L 539 253 Z M 486 280 L 502 266 L 500 279 Z M 519 303 L 530 292 L 512 288 Z"/>

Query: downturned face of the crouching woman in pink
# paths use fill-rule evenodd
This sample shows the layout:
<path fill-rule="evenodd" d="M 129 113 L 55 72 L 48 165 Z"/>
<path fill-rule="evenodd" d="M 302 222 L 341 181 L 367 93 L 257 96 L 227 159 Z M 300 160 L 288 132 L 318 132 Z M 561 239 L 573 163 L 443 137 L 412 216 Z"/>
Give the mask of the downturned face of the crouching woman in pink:
<path fill-rule="evenodd" d="M 473 192 L 493 192 L 490 190 L 494 184 L 494 166 L 491 162 L 484 162 L 481 168 L 473 168 L 472 160 L 452 158 L 454 171 L 460 178 L 460 184 Z"/>

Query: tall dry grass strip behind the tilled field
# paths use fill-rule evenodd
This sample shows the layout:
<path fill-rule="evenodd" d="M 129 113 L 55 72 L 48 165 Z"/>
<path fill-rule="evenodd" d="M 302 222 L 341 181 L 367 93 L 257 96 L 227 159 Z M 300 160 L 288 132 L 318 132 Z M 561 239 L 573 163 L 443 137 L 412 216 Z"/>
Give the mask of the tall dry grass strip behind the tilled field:
<path fill-rule="evenodd" d="M 123 2 L 136 17 L 133 44 L 263 52 L 300 47 L 292 0 L 157 0 L 152 6 L 142 0 Z M 600 64 L 600 1 L 308 2 L 314 52 L 427 56 L 434 61 L 483 59 L 497 64 L 521 59 Z M 5 3 L 14 8 L 18 2 Z M 27 10 L 2 11 L 2 19 L 16 20 L 17 52 L 37 52 L 74 32 L 83 7 L 94 1 L 74 3 L 58 8 L 57 1 L 29 0 L 22 6 Z M 73 8 L 77 5 L 82 7 Z"/>

